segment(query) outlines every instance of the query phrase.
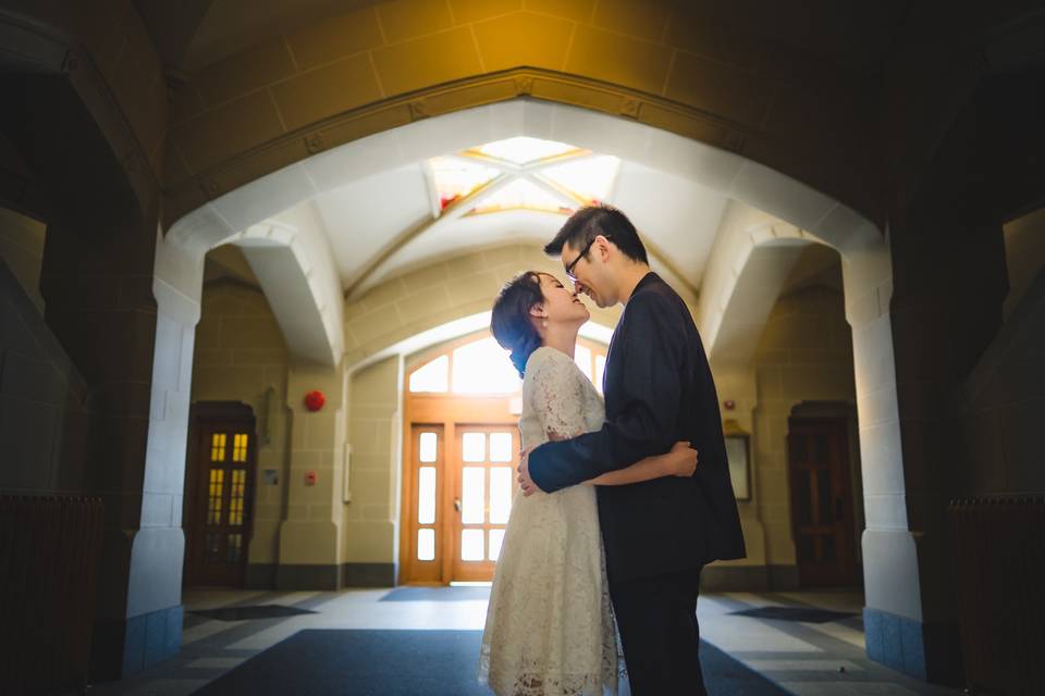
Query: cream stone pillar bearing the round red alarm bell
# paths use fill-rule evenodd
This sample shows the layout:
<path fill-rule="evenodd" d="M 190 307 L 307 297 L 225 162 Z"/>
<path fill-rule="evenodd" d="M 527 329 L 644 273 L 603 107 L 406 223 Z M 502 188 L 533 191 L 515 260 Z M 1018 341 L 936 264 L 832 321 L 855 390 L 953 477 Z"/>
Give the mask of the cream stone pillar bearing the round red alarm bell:
<path fill-rule="evenodd" d="M 309 411 L 305 395 L 317 389 L 325 403 L 319 411 Z M 292 365 L 286 405 L 291 410 L 290 478 L 275 584 L 280 589 L 339 589 L 347 430 L 344 361 L 335 368 Z"/>

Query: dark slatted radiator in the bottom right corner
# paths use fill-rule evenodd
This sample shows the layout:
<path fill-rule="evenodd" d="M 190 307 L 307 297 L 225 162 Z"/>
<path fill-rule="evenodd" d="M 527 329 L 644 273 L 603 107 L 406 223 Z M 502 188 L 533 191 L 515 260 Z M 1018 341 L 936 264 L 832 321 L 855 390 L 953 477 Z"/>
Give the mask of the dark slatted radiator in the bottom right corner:
<path fill-rule="evenodd" d="M 1045 498 L 954 500 L 949 513 L 968 685 L 1045 695 Z"/>

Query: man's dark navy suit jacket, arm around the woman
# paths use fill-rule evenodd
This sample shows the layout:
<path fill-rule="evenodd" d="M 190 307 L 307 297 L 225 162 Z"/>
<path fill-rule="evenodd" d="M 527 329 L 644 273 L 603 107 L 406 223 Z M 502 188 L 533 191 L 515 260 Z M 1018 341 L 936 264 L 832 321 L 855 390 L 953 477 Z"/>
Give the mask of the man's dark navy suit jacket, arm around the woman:
<path fill-rule="evenodd" d="M 639 282 L 613 334 L 603 393 L 602 430 L 530 452 L 530 476 L 542 490 L 623 469 L 666 452 L 678 440 L 689 440 L 699 451 L 690 477 L 599 486 L 610 580 L 743 558 L 708 357 L 686 303 L 655 273 Z"/>

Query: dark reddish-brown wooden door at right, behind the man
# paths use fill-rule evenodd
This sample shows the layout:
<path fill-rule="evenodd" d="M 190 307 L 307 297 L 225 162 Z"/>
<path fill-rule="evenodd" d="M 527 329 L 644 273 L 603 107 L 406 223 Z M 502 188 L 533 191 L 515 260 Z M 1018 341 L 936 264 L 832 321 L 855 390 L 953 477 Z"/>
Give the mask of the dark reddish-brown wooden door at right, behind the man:
<path fill-rule="evenodd" d="M 856 585 L 849 442 L 843 419 L 790 419 L 791 526 L 803 587 Z"/>

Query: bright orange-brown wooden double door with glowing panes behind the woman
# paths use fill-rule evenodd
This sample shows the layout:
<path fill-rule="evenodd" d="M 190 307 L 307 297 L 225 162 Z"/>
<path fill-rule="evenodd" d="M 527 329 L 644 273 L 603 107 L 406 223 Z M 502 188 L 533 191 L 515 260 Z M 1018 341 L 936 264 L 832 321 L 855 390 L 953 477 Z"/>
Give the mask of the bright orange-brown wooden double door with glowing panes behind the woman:
<path fill-rule="evenodd" d="M 518 488 L 519 431 L 514 419 L 490 422 L 490 414 L 480 408 L 457 414 L 471 418 L 408 425 L 401 582 L 493 580 Z"/>

